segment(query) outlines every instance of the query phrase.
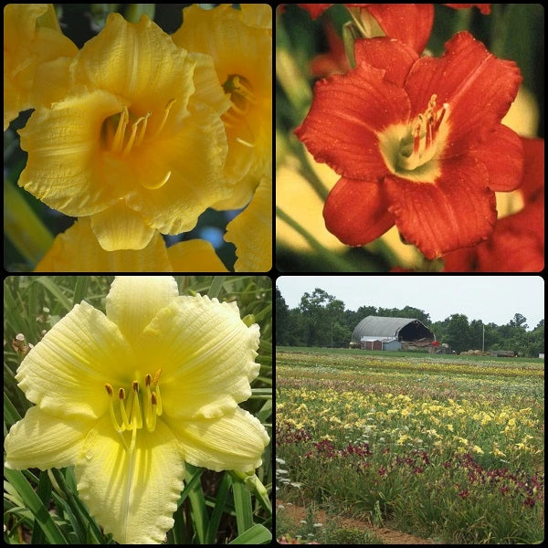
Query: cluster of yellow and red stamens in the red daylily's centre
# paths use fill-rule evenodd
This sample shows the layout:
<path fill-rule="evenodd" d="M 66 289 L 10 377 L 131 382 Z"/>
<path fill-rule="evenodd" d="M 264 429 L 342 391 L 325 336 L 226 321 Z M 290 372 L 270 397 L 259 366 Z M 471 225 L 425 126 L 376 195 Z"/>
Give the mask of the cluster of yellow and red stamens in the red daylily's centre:
<path fill-rule="evenodd" d="M 413 171 L 429 162 L 437 153 L 442 123 L 449 109 L 448 103 L 437 108 L 437 95 L 428 101 L 427 110 L 416 117 L 410 125 L 410 136 L 403 140 L 397 157 L 397 167 Z"/>

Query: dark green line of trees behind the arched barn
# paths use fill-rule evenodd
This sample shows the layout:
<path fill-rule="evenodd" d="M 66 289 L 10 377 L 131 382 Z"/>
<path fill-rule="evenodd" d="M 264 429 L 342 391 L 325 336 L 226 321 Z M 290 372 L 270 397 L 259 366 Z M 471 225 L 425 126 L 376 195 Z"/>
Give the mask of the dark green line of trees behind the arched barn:
<path fill-rule="evenodd" d="M 279 346 L 347 348 L 354 327 L 366 316 L 420 320 L 436 334 L 437 341 L 447 342 L 457 353 L 481 350 L 484 327 L 486 351 L 512 350 L 522 356 L 538 356 L 544 352 L 544 320 L 531 329 L 519 312 L 505 325 L 469 321 L 464 314 L 451 314 L 443 321 L 431 321 L 426 311 L 412 306 L 389 309 L 364 305 L 357 311 L 349 311 L 342 300 L 318 288 L 312 293 L 304 293 L 299 306 L 290 309 L 276 288 L 276 343 Z"/>

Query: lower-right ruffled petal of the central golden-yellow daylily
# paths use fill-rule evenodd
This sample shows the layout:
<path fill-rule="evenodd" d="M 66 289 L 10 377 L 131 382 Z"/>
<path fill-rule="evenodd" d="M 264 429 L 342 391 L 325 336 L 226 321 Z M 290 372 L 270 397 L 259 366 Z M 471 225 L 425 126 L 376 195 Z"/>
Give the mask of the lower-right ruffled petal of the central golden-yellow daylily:
<path fill-rule="evenodd" d="M 230 194 L 222 171 L 227 155 L 223 123 L 205 105 L 193 110 L 180 132 L 132 157 L 133 181 L 141 188 L 127 203 L 163 234 L 192 230 L 207 207 Z M 147 189 L 168 171 L 165 184 Z"/>

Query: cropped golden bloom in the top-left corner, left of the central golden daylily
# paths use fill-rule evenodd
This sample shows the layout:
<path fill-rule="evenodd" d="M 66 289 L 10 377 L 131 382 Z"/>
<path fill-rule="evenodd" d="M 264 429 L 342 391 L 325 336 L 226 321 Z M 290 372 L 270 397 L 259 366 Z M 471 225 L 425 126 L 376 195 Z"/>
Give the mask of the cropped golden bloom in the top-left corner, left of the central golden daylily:
<path fill-rule="evenodd" d="M 68 66 L 76 47 L 63 36 L 53 4 L 8 4 L 4 8 L 4 131 L 20 111 L 47 105 L 43 63 L 64 58 Z"/>

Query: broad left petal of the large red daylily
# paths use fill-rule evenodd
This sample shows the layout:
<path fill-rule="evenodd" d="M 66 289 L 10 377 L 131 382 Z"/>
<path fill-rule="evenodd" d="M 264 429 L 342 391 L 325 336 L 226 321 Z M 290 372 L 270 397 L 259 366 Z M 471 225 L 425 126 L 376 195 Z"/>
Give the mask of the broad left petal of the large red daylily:
<path fill-rule="evenodd" d="M 406 92 L 364 63 L 316 83 L 311 111 L 295 130 L 317 162 L 338 174 L 377 180 L 388 172 L 376 132 L 407 121 Z"/>

